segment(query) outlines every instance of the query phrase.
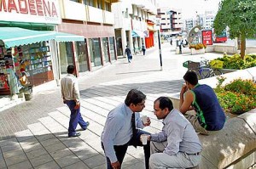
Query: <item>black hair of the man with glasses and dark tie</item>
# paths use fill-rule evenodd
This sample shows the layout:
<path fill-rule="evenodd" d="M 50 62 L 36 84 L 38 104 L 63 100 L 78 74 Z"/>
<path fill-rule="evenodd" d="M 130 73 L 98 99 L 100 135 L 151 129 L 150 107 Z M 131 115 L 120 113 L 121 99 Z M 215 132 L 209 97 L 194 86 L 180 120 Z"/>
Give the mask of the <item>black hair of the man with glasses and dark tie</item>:
<path fill-rule="evenodd" d="M 137 89 L 131 89 L 127 94 L 125 99 L 125 104 L 130 106 L 130 104 L 139 104 L 142 103 L 143 100 L 146 99 L 146 95 Z"/>

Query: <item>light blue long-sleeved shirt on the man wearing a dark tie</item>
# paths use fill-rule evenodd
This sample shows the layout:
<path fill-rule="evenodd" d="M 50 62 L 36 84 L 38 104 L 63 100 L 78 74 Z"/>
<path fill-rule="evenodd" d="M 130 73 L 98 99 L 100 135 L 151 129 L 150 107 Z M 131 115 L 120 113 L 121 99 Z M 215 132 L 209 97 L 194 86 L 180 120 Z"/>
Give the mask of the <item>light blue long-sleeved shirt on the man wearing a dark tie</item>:
<path fill-rule="evenodd" d="M 102 143 L 104 145 L 105 155 L 111 162 L 116 162 L 113 146 L 127 144 L 132 137 L 131 128 L 131 109 L 123 104 L 119 104 L 108 114 L 105 127 L 102 132 Z M 139 113 L 135 113 L 136 127 L 143 128 L 143 121 Z"/>

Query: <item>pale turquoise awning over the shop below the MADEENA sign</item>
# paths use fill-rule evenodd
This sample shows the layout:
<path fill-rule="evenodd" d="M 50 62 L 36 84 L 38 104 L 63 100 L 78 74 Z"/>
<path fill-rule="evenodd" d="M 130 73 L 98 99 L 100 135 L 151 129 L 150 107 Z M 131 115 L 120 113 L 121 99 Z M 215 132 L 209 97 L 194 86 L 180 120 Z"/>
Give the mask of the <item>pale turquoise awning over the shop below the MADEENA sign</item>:
<path fill-rule="evenodd" d="M 56 32 L 32 31 L 19 27 L 0 27 L 0 40 L 6 48 L 55 39 L 60 42 L 84 41 L 83 36 Z"/>

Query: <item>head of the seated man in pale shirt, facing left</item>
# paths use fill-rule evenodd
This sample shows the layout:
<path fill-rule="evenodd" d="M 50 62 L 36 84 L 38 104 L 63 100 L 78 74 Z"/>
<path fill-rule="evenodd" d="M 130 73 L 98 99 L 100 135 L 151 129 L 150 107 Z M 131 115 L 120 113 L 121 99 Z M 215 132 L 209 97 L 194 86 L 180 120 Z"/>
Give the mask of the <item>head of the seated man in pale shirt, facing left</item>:
<path fill-rule="evenodd" d="M 160 97 L 154 100 L 154 115 L 156 115 L 159 120 L 165 119 L 172 109 L 173 105 L 171 99 Z"/>

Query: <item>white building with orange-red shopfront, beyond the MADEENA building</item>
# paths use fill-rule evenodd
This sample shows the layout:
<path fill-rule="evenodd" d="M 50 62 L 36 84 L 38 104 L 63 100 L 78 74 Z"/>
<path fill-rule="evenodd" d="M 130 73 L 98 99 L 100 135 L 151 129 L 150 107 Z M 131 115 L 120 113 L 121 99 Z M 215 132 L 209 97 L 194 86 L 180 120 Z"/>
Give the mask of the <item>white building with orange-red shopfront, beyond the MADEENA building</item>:
<path fill-rule="evenodd" d="M 123 0 L 113 3 L 114 31 L 119 56 L 125 56 L 127 45 L 133 53 L 140 51 L 143 44 L 146 48 L 154 46 L 157 39 L 156 9 L 156 0 Z"/>

